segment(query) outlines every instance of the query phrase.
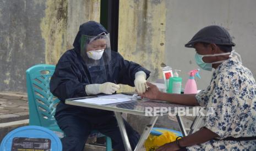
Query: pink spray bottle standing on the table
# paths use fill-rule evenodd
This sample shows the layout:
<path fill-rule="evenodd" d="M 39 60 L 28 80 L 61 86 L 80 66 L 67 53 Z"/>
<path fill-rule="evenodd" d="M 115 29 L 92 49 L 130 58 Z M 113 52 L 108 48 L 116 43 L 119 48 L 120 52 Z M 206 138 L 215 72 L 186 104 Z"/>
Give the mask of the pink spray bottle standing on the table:
<path fill-rule="evenodd" d="M 185 85 L 184 94 L 197 94 L 197 83 L 195 83 L 195 75 L 201 79 L 199 75 L 200 69 L 194 69 L 189 72 L 189 79 Z"/>

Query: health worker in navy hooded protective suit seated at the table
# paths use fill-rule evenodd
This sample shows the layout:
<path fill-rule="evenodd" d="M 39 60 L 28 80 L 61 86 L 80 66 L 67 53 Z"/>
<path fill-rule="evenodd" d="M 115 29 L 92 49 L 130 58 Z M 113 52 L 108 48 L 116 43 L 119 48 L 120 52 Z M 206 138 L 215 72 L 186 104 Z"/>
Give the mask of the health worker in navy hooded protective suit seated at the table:
<path fill-rule="evenodd" d="M 92 130 L 109 136 L 113 149 L 124 150 L 113 112 L 64 102 L 67 98 L 110 95 L 119 89 L 118 84 L 135 85 L 137 92 L 142 94 L 150 72 L 111 51 L 109 33 L 95 21 L 80 25 L 73 46 L 74 49 L 66 51 L 59 59 L 50 82 L 52 94 L 61 100 L 55 118 L 65 134 L 61 139 L 63 150 L 83 150 Z M 125 120 L 124 124 L 134 149 L 139 134 Z"/>

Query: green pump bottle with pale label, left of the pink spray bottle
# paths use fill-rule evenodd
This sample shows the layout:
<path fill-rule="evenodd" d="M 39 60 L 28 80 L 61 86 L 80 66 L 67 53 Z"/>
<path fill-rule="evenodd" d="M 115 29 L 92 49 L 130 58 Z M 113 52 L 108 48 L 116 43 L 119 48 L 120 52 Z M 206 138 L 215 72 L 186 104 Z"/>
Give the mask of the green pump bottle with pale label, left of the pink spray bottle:
<path fill-rule="evenodd" d="M 170 94 L 181 94 L 182 78 L 179 77 L 178 71 L 180 70 L 175 69 L 173 77 L 171 77 L 169 80 L 169 88 L 167 92 Z"/>

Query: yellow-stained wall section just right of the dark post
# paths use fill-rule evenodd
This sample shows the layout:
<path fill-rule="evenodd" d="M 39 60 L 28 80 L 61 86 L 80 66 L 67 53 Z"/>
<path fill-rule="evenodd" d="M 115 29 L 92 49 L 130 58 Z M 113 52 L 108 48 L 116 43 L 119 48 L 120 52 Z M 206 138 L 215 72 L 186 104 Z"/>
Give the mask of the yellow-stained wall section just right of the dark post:
<path fill-rule="evenodd" d="M 165 1 L 120 1 L 118 52 L 151 71 L 150 79 L 161 76 L 165 60 Z M 121 91 L 133 91 L 123 86 Z M 122 87 L 121 87 L 122 88 Z"/>

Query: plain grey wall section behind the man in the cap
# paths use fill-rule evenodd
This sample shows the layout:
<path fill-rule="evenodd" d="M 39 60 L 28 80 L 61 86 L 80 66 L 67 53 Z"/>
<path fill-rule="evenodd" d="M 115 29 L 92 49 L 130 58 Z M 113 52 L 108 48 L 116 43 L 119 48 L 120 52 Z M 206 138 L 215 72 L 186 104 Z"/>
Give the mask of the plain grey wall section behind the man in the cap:
<path fill-rule="evenodd" d="M 234 48 L 256 78 L 256 1 L 254 0 L 194 0 L 166 1 L 166 65 L 181 69 L 183 88 L 191 69 L 198 68 L 195 51 L 185 48 L 196 32 L 208 25 L 220 25 L 230 32 Z M 199 89 L 209 84 L 211 72 L 201 70 Z"/>

